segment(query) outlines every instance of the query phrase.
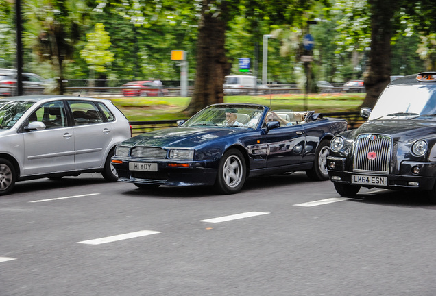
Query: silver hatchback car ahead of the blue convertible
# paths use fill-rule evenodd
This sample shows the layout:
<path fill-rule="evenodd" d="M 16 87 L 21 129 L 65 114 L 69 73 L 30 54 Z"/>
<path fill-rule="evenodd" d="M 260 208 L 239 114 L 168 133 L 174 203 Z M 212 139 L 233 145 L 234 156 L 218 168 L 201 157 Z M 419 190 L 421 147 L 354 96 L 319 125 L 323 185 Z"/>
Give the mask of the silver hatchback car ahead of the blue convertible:
<path fill-rule="evenodd" d="M 33 95 L 0 99 L 0 195 L 16 181 L 100 172 L 117 181 L 114 147 L 132 135 L 110 101 Z"/>

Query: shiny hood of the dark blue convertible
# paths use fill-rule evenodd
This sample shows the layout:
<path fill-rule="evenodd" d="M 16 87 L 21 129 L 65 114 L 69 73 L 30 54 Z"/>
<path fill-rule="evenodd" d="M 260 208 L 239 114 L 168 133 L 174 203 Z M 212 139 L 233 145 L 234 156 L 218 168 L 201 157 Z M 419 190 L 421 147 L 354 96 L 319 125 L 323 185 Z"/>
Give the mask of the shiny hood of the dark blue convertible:
<path fill-rule="evenodd" d="M 125 140 L 122 145 L 193 148 L 210 140 L 247 132 L 241 128 L 171 127 L 147 132 Z"/>

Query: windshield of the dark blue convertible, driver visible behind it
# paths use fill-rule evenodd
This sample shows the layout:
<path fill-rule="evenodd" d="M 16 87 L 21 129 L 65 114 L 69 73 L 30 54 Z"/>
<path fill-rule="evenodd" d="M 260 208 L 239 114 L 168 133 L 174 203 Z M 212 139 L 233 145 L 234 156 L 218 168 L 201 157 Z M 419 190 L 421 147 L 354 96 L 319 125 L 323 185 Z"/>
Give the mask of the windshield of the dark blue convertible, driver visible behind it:
<path fill-rule="evenodd" d="M 256 128 L 263 113 L 262 106 L 250 105 L 213 105 L 191 117 L 184 127 L 248 127 Z"/>

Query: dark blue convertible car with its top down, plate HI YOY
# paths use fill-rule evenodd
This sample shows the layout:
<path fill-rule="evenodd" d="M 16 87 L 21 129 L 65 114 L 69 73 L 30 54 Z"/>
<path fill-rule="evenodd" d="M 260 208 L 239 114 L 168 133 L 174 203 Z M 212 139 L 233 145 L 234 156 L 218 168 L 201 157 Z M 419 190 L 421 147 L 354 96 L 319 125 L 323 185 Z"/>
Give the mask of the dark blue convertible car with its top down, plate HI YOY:
<path fill-rule="evenodd" d="M 178 125 L 117 145 L 112 164 L 119 181 L 139 188 L 215 186 L 232 194 L 258 175 L 306 171 L 328 180 L 330 140 L 347 130 L 343 119 L 254 104 L 208 106 Z"/>

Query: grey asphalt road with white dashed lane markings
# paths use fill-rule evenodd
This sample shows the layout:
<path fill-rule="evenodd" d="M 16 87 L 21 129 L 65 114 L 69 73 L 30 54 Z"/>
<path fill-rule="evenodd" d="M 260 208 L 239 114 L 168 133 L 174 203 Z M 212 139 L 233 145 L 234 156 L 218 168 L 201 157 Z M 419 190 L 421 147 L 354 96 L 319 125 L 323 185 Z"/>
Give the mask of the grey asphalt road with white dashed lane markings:
<path fill-rule="evenodd" d="M 436 295 L 436 206 L 360 196 L 304 173 L 237 195 L 21 182 L 0 197 L 0 295 Z"/>

